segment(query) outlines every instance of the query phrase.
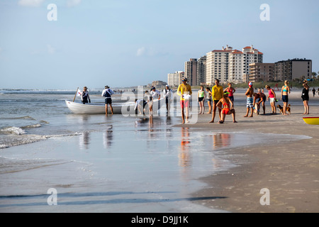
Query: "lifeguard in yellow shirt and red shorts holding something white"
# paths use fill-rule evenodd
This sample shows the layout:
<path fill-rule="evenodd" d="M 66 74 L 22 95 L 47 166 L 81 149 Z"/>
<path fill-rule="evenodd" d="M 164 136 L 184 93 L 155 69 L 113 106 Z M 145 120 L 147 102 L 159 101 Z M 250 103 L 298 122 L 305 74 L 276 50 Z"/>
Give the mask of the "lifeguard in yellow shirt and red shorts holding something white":
<path fill-rule="evenodd" d="M 187 84 L 187 79 L 181 80 L 182 84 L 179 85 L 177 89 L 177 94 L 181 96 L 181 119 L 185 123 L 184 109 L 186 109 L 186 123 L 189 123 L 189 100 L 191 99 L 191 85 Z"/>

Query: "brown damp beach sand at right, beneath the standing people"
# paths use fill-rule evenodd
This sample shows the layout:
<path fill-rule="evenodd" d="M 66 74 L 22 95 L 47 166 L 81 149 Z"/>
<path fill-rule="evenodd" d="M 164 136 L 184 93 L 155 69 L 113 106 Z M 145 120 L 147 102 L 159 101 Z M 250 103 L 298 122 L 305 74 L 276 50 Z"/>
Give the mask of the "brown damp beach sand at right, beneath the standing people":
<path fill-rule="evenodd" d="M 280 99 L 278 93 L 277 98 Z M 254 114 L 253 118 L 244 118 L 246 107 L 236 106 L 235 101 L 238 123 L 233 123 L 232 117 L 226 116 L 224 124 L 208 124 L 211 115 L 204 114 L 198 117 L 196 124 L 177 125 L 193 130 L 200 128 L 201 131 L 205 128 L 213 132 L 275 133 L 279 140 L 283 134 L 309 137 L 298 141 L 274 140 L 268 145 L 227 150 L 228 159 L 240 165 L 230 171 L 201 178 L 207 187 L 194 196 L 224 196 L 225 199 L 208 201 L 204 205 L 231 212 L 318 212 L 319 126 L 310 126 L 303 121 L 305 116 L 300 96 L 300 91 L 292 92 L 289 96 L 289 101 L 300 102 L 291 106 L 290 116 L 271 115 L 271 107 L 267 102 L 266 115 Z M 237 94 L 236 98 L 245 96 Z M 307 117 L 319 116 L 319 97 L 312 97 L 311 94 L 309 104 L 310 114 Z M 215 122 L 218 122 L 218 117 Z M 260 203 L 264 195 L 260 194 L 261 189 L 269 189 L 269 205 Z"/>

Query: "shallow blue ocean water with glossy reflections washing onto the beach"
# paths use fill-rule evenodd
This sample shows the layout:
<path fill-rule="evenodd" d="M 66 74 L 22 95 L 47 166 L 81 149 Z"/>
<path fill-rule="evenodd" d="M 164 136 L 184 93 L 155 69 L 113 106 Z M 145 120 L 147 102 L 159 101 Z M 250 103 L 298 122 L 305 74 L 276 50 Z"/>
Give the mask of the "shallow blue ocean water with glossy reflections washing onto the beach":
<path fill-rule="evenodd" d="M 179 116 L 72 114 L 65 99 L 72 100 L 74 92 L 2 93 L 4 212 L 216 212 L 191 203 L 223 199 L 191 196 L 207 187 L 198 179 L 240 165 L 228 150 L 278 140 L 272 134 L 177 128 Z M 91 101 L 103 104 L 100 92 L 92 92 Z M 278 143 L 296 139 L 302 138 L 282 135 Z M 58 206 L 47 204 L 51 188 Z"/>

